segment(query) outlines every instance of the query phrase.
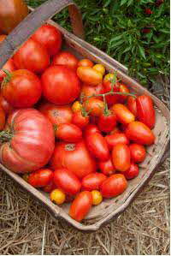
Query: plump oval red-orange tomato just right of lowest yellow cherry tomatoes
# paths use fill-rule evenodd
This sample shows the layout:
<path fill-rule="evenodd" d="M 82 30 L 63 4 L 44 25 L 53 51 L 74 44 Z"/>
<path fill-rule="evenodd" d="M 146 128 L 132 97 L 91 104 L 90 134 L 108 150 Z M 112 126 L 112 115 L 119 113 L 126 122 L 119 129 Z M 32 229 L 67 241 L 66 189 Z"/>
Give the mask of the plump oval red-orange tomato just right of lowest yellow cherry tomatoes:
<path fill-rule="evenodd" d="M 122 174 L 114 174 L 106 179 L 101 187 L 104 198 L 112 198 L 123 193 L 127 188 L 127 180 Z"/>

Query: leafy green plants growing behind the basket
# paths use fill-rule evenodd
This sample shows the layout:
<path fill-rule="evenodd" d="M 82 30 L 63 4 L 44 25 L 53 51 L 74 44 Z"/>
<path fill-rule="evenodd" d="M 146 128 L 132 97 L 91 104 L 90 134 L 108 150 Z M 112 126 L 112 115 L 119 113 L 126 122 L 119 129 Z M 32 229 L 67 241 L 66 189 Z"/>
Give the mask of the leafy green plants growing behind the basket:
<path fill-rule="evenodd" d="M 35 7 L 44 1 L 27 2 Z M 85 40 L 127 66 L 144 85 L 156 74 L 169 72 L 169 2 L 158 6 L 156 1 L 75 0 L 83 14 Z M 146 8 L 152 14 L 146 14 Z M 71 30 L 67 10 L 55 20 Z"/>

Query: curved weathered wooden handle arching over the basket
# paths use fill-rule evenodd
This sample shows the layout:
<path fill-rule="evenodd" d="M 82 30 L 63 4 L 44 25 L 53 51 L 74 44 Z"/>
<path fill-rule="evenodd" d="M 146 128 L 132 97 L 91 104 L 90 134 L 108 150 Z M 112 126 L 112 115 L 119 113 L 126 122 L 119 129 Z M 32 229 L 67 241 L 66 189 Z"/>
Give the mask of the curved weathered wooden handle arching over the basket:
<path fill-rule="evenodd" d="M 32 36 L 38 27 L 41 27 L 45 21 L 59 13 L 68 6 L 68 11 L 76 36 L 84 38 L 84 27 L 80 9 L 73 0 L 49 0 L 37 9 L 32 11 L 27 17 L 9 33 L 9 36 L 3 40 L 0 46 L 0 68 L 12 57 L 15 51 Z"/>

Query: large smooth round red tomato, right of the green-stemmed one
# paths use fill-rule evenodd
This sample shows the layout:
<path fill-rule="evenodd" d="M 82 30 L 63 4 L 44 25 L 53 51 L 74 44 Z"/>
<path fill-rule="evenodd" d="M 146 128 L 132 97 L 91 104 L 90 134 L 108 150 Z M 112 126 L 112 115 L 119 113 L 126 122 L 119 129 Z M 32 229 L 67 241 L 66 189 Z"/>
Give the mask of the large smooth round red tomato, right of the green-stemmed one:
<path fill-rule="evenodd" d="M 62 65 L 45 70 L 42 86 L 44 97 L 54 104 L 69 104 L 80 95 L 79 78 L 74 70 Z"/>

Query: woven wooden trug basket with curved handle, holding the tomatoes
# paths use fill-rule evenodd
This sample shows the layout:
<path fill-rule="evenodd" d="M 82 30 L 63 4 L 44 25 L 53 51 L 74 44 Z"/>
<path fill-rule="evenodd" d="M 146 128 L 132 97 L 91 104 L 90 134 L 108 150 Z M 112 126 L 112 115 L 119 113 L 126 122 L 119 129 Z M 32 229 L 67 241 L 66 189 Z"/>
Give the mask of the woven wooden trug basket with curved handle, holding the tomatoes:
<path fill-rule="evenodd" d="M 71 17 L 73 33 L 69 33 L 64 28 L 49 20 L 63 8 L 67 7 Z M 102 63 L 110 73 L 117 71 L 117 76 L 129 87 L 132 92 L 137 94 L 147 94 L 153 99 L 156 106 L 156 126 L 153 130 L 156 135 L 156 142 L 147 148 L 147 158 L 140 164 L 139 176 L 129 182 L 127 190 L 114 199 L 105 199 L 101 205 L 94 206 L 86 217 L 84 223 L 78 223 L 68 216 L 69 205 L 59 207 L 53 204 L 47 194 L 32 188 L 21 176 L 16 175 L 0 164 L 1 170 L 7 173 L 15 182 L 25 188 L 27 192 L 38 199 L 55 219 L 61 217 L 80 230 L 97 230 L 102 224 L 108 223 L 112 218 L 121 214 L 128 205 L 136 198 L 151 176 L 157 171 L 158 165 L 167 157 L 169 143 L 169 111 L 161 100 L 148 92 L 143 86 L 127 75 L 127 68 L 118 63 L 103 51 L 86 43 L 83 40 L 84 29 L 80 11 L 72 0 L 50 0 L 42 4 L 38 9 L 32 11 L 27 18 L 15 27 L 12 33 L 3 41 L 0 46 L 0 68 L 3 68 L 9 57 L 12 57 L 20 46 L 34 33 L 44 22 L 48 22 L 57 27 L 63 34 L 65 49 L 73 52 L 79 58 L 89 58 L 94 63 Z"/>

